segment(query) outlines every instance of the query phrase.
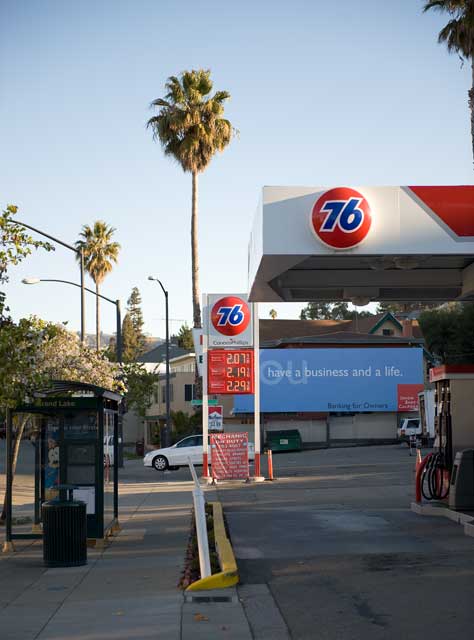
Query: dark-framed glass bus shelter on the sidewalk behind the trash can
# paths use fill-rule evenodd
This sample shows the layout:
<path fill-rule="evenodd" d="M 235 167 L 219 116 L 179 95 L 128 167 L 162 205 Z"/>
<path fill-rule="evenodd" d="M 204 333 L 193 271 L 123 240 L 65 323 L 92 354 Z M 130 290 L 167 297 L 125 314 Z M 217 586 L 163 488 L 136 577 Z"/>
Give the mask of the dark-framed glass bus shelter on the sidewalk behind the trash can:
<path fill-rule="evenodd" d="M 42 538 L 41 507 L 67 497 L 86 503 L 87 537 L 118 528 L 118 420 L 122 397 L 91 384 L 56 381 L 7 412 L 5 549 L 15 539 Z M 14 424 L 16 425 L 14 427 Z M 25 425 L 27 428 L 25 430 Z M 113 455 L 111 453 L 113 443 Z M 12 518 L 14 465 L 21 447 L 34 449 L 33 526 Z"/>

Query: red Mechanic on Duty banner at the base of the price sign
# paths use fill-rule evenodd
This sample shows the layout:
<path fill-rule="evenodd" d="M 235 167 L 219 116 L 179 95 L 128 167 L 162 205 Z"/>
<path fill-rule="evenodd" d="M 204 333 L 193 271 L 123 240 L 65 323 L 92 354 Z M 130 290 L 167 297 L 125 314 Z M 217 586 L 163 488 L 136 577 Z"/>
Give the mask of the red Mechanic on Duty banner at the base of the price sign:
<path fill-rule="evenodd" d="M 215 480 L 249 477 L 248 433 L 211 434 L 211 468 Z"/>

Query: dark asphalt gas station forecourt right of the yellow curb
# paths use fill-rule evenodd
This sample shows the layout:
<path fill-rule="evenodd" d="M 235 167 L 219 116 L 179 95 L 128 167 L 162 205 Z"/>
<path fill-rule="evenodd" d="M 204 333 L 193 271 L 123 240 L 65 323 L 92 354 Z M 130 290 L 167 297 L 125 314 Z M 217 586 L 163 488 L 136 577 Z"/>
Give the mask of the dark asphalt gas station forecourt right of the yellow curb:
<path fill-rule="evenodd" d="M 260 585 L 298 639 L 470 638 L 474 538 L 410 511 L 414 465 L 406 446 L 307 451 L 275 455 L 274 483 L 220 485 L 241 593 Z"/>

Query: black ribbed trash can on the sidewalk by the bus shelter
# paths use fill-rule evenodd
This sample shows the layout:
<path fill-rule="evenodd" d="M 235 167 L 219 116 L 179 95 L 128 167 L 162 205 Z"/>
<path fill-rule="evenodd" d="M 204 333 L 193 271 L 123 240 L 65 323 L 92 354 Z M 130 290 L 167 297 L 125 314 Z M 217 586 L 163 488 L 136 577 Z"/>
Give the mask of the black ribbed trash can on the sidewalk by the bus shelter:
<path fill-rule="evenodd" d="M 42 506 L 43 560 L 46 567 L 87 564 L 86 503 L 50 500 Z"/>

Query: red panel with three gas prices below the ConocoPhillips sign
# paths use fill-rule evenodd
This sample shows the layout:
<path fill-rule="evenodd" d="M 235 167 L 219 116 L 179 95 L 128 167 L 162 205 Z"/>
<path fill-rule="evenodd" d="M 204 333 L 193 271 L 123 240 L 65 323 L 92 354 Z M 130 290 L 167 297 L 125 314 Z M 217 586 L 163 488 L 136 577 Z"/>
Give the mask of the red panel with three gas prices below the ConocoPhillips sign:
<path fill-rule="evenodd" d="M 229 349 L 208 352 L 208 393 L 253 393 L 253 350 Z"/>

